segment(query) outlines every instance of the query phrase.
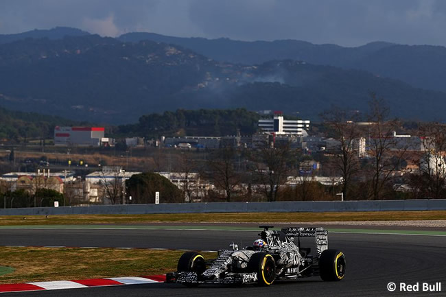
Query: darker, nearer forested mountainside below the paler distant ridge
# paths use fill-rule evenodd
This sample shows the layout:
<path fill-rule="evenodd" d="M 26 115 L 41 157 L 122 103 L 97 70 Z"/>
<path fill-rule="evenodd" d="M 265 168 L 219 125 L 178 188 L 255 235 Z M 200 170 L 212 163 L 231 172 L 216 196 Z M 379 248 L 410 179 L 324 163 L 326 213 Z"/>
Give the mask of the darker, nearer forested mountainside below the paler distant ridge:
<path fill-rule="evenodd" d="M 364 112 L 371 92 L 393 117 L 445 120 L 446 93 L 366 71 L 296 60 L 218 62 L 177 45 L 97 35 L 0 45 L 0 106 L 93 123 L 200 108 L 283 110 L 315 121 L 331 105 Z"/>

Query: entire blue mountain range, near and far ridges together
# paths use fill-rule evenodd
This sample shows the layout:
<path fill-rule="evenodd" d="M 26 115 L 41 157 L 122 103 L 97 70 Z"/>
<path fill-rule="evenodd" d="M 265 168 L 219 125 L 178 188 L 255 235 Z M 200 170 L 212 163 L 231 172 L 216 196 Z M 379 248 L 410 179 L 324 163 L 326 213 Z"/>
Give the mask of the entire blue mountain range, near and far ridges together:
<path fill-rule="evenodd" d="M 58 27 L 0 35 L 0 106 L 96 123 L 238 107 L 316 120 L 331 105 L 364 112 L 375 92 L 392 116 L 444 121 L 445 57 L 432 46 L 102 38 Z"/>

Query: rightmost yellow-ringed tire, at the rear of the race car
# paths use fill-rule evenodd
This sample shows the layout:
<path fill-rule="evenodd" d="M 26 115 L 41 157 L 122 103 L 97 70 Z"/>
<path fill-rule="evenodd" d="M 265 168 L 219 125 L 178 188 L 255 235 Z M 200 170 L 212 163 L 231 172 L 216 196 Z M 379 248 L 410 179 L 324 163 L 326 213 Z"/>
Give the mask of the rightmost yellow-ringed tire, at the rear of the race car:
<path fill-rule="evenodd" d="M 319 258 L 320 278 L 340 281 L 345 275 L 345 255 L 340 250 L 324 250 Z"/>

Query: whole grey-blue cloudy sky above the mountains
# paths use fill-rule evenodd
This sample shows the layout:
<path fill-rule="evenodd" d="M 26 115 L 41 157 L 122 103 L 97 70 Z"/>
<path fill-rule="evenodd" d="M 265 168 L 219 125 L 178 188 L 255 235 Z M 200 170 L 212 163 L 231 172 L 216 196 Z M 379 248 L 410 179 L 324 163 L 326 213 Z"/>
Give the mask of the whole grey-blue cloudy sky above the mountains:
<path fill-rule="evenodd" d="M 102 36 L 446 45 L 446 0 L 0 0 L 0 34 L 56 26 Z"/>

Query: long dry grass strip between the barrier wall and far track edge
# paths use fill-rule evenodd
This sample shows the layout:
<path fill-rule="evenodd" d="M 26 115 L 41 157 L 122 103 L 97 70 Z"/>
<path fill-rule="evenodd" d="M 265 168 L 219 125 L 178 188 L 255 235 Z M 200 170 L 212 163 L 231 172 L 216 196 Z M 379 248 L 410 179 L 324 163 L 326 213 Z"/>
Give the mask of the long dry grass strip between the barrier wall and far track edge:
<path fill-rule="evenodd" d="M 0 216 L 0 226 L 150 224 L 163 222 L 257 223 L 401 221 L 446 219 L 446 211 L 373 211 L 345 213 L 176 213 L 154 215 L 8 215 Z"/>

